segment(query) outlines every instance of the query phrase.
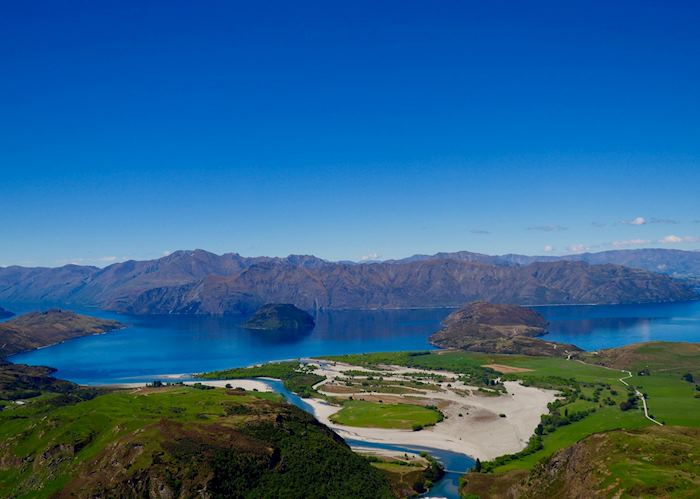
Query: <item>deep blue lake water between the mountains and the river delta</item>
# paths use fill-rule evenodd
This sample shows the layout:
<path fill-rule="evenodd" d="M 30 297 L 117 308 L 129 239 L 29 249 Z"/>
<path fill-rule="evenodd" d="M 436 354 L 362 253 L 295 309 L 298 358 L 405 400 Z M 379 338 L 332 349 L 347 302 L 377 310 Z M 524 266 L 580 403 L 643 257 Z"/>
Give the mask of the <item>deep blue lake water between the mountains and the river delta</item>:
<path fill-rule="evenodd" d="M 46 308 L 46 307 L 40 307 Z M 37 306 L 14 306 L 15 312 Z M 640 341 L 700 341 L 700 302 L 614 306 L 536 307 L 550 322 L 545 339 L 586 350 Z M 450 309 L 326 311 L 308 333 L 248 331 L 237 317 L 128 316 L 76 310 L 114 318 L 126 329 L 87 336 L 12 357 L 49 365 L 57 376 L 97 384 L 150 380 L 297 357 L 424 350 Z"/>

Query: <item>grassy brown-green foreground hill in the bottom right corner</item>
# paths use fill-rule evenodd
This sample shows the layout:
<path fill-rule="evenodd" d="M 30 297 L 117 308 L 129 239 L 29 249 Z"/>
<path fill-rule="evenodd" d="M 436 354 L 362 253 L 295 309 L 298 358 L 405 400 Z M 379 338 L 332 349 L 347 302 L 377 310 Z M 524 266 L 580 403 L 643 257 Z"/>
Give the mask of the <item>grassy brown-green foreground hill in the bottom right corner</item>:
<path fill-rule="evenodd" d="M 700 429 L 650 426 L 596 433 L 529 473 L 470 473 L 463 497 L 697 497 Z"/>

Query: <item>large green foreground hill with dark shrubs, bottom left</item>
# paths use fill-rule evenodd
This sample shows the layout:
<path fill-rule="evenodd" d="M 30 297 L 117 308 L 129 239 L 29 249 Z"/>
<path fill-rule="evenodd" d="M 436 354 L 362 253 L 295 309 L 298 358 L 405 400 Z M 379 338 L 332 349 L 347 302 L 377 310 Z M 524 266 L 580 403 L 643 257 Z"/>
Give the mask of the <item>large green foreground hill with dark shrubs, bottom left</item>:
<path fill-rule="evenodd" d="M 0 411 L 1 497 L 392 497 L 380 473 L 268 393 L 169 386 Z"/>

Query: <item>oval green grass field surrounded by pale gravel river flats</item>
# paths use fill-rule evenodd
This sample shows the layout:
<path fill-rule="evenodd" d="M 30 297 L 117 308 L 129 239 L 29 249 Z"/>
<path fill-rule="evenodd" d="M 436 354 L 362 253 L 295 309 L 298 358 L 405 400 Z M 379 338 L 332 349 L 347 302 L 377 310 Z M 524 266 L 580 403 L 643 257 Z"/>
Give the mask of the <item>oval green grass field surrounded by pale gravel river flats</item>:
<path fill-rule="evenodd" d="M 412 429 L 415 425 L 437 423 L 441 414 L 427 407 L 412 404 L 380 404 L 363 400 L 348 400 L 331 416 L 335 423 L 366 428 Z"/>

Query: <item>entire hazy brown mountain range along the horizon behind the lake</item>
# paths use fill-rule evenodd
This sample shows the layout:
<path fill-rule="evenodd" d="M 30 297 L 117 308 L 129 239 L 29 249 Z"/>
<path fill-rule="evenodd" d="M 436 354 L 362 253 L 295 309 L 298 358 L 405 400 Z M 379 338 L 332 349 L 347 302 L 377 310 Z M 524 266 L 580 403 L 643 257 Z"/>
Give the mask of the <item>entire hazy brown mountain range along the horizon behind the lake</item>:
<path fill-rule="evenodd" d="M 666 275 L 700 276 L 698 252 L 629 250 L 565 258 L 458 252 L 353 263 L 176 251 L 103 269 L 0 268 L 0 301 L 134 314 L 248 314 L 268 302 L 313 310 L 457 307 L 474 300 L 535 305 L 698 298 L 689 282 Z"/>

